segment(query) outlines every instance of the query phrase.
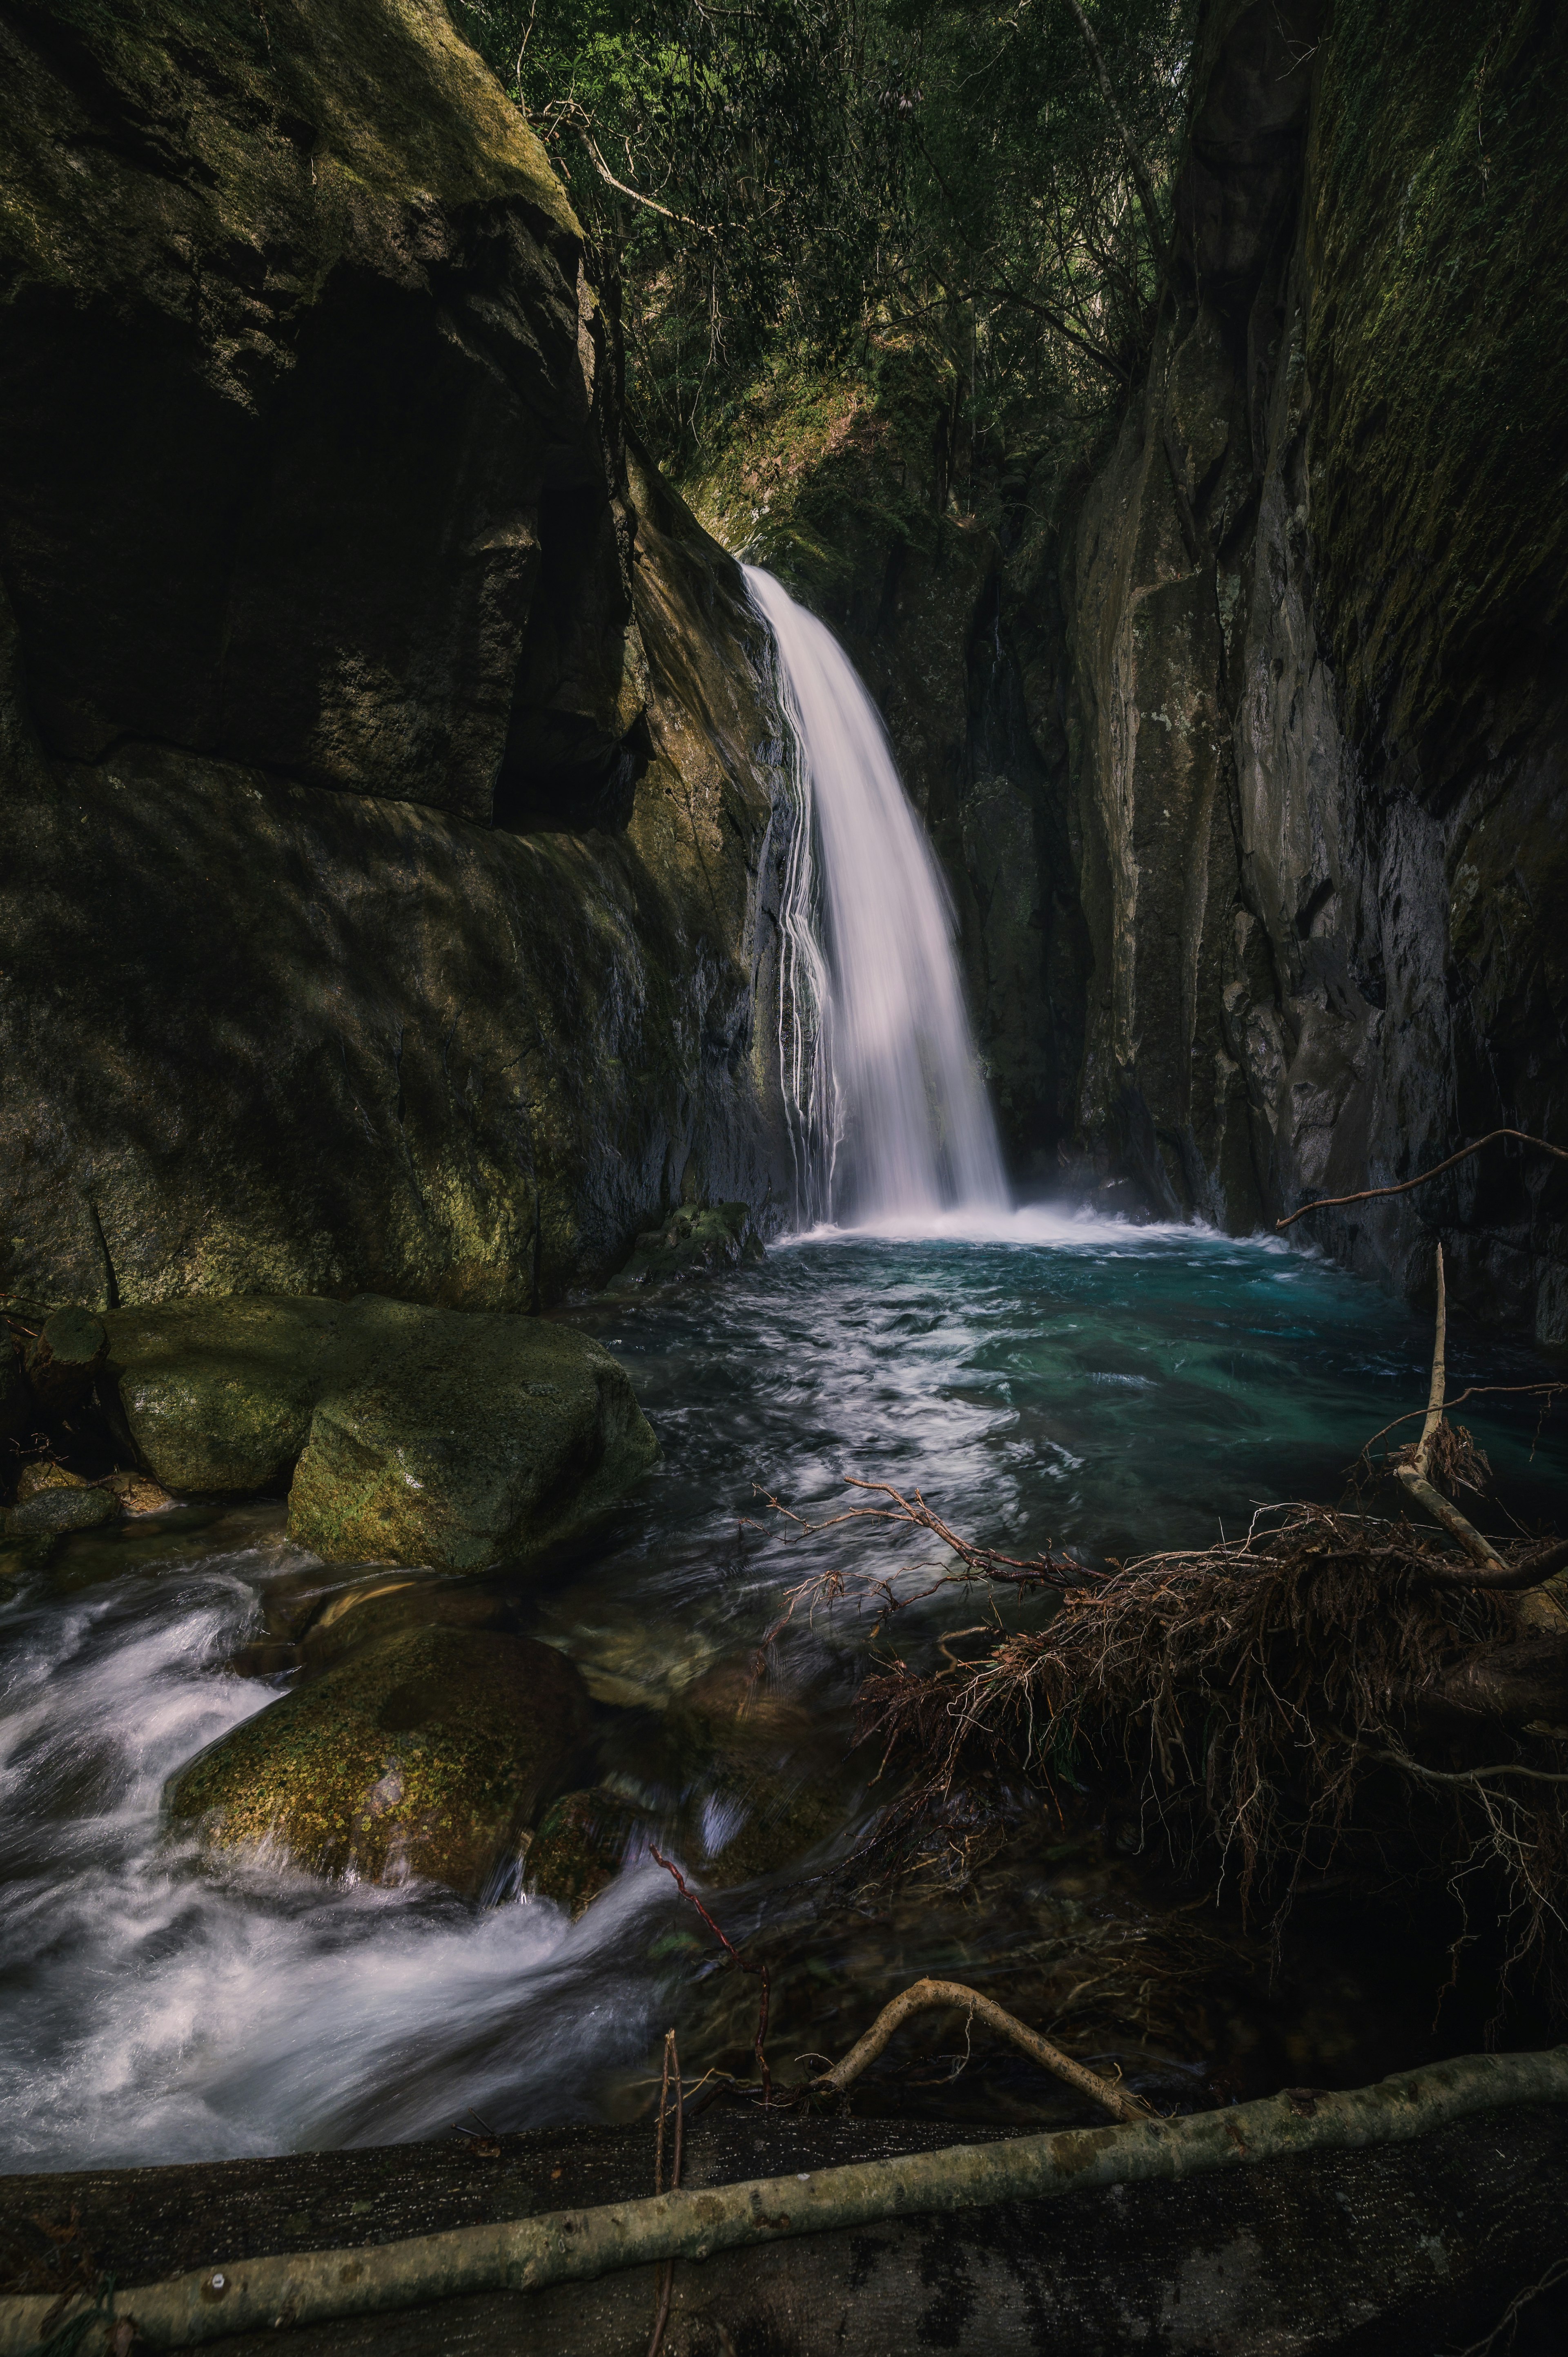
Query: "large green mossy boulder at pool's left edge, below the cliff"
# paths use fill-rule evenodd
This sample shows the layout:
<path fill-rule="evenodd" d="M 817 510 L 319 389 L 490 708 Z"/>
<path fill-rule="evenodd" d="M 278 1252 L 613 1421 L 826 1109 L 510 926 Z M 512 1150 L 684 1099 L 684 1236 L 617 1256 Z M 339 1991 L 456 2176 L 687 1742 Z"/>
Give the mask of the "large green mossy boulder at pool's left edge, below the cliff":
<path fill-rule="evenodd" d="M 123 1435 L 167 1487 L 290 1487 L 328 1563 L 479 1572 L 582 1537 L 653 1464 L 625 1369 L 538 1318 L 179 1301 L 106 1318 Z"/>

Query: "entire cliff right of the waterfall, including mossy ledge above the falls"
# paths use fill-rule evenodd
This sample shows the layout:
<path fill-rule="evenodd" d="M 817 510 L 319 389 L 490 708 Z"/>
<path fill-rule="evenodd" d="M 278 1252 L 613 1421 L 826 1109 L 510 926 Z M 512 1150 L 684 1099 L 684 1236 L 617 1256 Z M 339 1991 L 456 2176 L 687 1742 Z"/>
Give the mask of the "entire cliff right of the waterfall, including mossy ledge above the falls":
<path fill-rule="evenodd" d="M 1228 1230 L 1568 1146 L 1568 45 L 1224 0 L 1113 445 L 950 497 L 910 361 L 698 483 L 846 639 L 953 879 L 1014 1176 Z M 1568 1164 L 1304 1228 L 1568 1341 Z M 1302 1233 L 1302 1230 L 1297 1230 Z"/>

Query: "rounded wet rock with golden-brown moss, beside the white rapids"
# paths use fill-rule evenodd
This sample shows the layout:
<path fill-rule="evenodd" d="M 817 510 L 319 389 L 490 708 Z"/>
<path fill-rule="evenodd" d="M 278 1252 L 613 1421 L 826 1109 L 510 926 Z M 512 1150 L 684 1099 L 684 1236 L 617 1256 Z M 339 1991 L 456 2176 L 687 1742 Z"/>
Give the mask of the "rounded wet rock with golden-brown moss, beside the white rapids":
<path fill-rule="evenodd" d="M 549 1645 L 413 1629 L 283 1695 L 167 1787 L 210 1853 L 276 1843 L 314 1874 L 483 1895 L 589 1728 Z"/>

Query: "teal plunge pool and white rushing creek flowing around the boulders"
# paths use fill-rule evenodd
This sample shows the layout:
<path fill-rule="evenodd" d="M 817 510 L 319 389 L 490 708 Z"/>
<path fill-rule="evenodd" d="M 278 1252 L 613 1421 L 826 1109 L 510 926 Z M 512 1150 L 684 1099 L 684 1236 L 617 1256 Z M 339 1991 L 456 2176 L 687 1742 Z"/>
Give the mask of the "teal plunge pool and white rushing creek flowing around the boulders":
<path fill-rule="evenodd" d="M 1205 2074 L 1250 2093 L 1424 2051 L 1419 2006 L 1342 1963 L 1306 1996 L 1269 1994 L 1233 1919 L 1167 1890 L 1153 1853 L 1040 1817 L 967 1881 L 931 1860 L 879 1888 L 844 1864 L 889 1798 L 851 1749 L 870 1617 L 802 1607 L 755 1673 L 813 1572 L 861 1565 L 913 1593 L 941 1567 L 929 1539 L 792 1534 L 755 1483 L 813 1516 L 842 1506 L 844 1473 L 922 1485 L 1021 1556 L 1203 1541 L 1254 1501 L 1339 1494 L 1361 1442 L 1424 1398 L 1412 1315 L 1304 1252 L 1042 1211 L 981 1235 L 816 1235 L 575 1315 L 627 1362 L 665 1454 L 592 1556 L 516 1584 L 523 1626 L 589 1678 L 594 1775 L 651 1808 L 771 1961 L 780 2077 L 806 2048 L 842 2053 L 920 1970 L 1061 2018 L 1080 2051 L 1099 2034 L 1162 2100 L 1200 2100 Z M 1530 1372 L 1450 1332 L 1452 1391 Z M 1563 1445 L 1507 1405 L 1464 1417 L 1507 1504 L 1544 1516 Z M 498 2128 L 632 2117 L 667 2025 L 689 2069 L 747 2067 L 757 1987 L 637 1841 L 573 1923 L 526 1893 L 328 1886 L 269 1857 L 212 1874 L 165 1836 L 165 1777 L 288 1683 L 226 1666 L 269 1593 L 365 1577 L 311 1572 L 281 1501 L 257 1501 L 75 1537 L 0 1607 L 0 2166 L 431 2135 L 469 2105 Z M 927 1662 L 943 1631 L 1028 1610 L 948 1591 L 875 1643 Z M 712 1737 L 738 1702 L 740 1775 Z M 1066 2117 L 1021 2060 L 962 2060 L 910 2041 L 865 2105 Z"/>

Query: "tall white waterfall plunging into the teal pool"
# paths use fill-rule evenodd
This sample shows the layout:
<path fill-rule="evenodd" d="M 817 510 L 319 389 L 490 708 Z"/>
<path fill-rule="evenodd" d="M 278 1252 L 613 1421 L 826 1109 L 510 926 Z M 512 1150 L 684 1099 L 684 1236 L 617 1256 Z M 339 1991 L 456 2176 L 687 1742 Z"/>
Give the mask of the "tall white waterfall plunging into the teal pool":
<path fill-rule="evenodd" d="M 780 1072 L 806 1226 L 922 1228 L 1009 1204 L 953 900 L 882 717 L 816 615 L 757 566 L 797 790 L 780 910 Z"/>

